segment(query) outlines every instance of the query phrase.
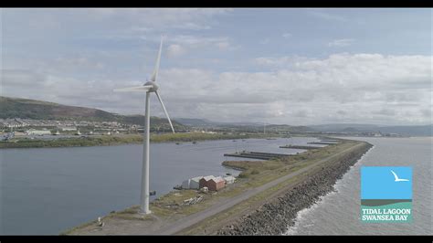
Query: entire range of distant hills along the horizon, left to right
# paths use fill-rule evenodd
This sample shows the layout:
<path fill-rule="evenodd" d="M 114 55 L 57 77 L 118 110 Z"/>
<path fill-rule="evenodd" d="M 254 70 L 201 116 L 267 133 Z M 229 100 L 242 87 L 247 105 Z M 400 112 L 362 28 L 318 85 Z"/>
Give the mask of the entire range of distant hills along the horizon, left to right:
<path fill-rule="evenodd" d="M 143 115 L 120 115 L 108 111 L 93 108 L 61 105 L 58 103 L 10 98 L 0 96 L 0 119 L 22 118 L 37 120 L 68 120 L 68 121 L 90 121 L 90 122 L 122 122 L 126 124 L 144 125 Z M 193 127 L 219 127 L 235 128 L 246 131 L 263 131 L 263 123 L 260 122 L 213 122 L 207 119 L 176 118 L 173 121 L 174 129 L 186 129 Z M 166 119 L 151 117 L 151 126 L 166 130 L 169 124 Z M 321 124 L 310 126 L 290 126 L 286 124 L 267 124 L 269 132 L 382 132 L 398 133 L 406 136 L 431 136 L 433 125 L 422 126 L 383 126 L 375 124 Z"/>

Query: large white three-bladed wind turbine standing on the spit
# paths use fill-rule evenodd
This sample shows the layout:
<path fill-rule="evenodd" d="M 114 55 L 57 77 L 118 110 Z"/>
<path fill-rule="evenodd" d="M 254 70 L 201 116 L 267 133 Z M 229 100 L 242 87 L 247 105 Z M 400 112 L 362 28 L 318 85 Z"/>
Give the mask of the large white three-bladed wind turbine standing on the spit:
<path fill-rule="evenodd" d="M 149 123 L 150 123 L 150 98 L 151 93 L 155 93 L 156 97 L 160 101 L 163 106 L 163 110 L 165 115 L 167 116 L 167 120 L 172 127 L 172 131 L 174 133 L 174 128 L 172 121 L 170 121 L 170 117 L 168 116 L 167 110 L 165 110 L 165 106 L 163 100 L 161 99 L 161 95 L 158 92 L 158 85 L 156 84 L 156 79 L 158 77 L 159 63 L 161 60 L 161 51 L 163 49 L 163 38 L 161 38 L 161 44 L 159 46 L 158 57 L 156 58 L 155 69 L 153 70 L 153 75 L 150 81 L 144 83 L 143 86 L 138 87 L 129 87 L 123 89 L 116 89 L 114 91 L 144 91 L 146 92 L 146 105 L 145 105 L 145 122 L 144 122 L 144 134 L 143 134 L 143 169 L 142 169 L 142 194 L 140 196 L 140 209 L 144 214 L 150 214 L 149 210 Z"/>

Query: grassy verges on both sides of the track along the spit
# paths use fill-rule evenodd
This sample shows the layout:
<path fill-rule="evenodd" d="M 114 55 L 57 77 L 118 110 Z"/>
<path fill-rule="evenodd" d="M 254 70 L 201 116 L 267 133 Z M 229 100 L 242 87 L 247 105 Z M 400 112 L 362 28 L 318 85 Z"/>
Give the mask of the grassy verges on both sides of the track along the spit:
<path fill-rule="evenodd" d="M 343 150 L 351 148 L 358 143 L 360 142 L 344 141 L 343 143 L 336 145 L 329 145 L 321 149 L 314 149 L 304 153 L 294 154 L 289 157 L 269 161 L 226 161 L 223 163 L 223 165 L 242 170 L 241 174 L 238 176 L 237 182 L 234 185 L 229 185 L 225 189 L 211 194 L 201 194 L 195 190 L 172 191 L 154 200 L 150 205 L 150 209 L 153 211 L 154 216 L 159 217 L 167 222 L 173 222 L 182 217 L 205 210 L 209 206 L 216 205 L 221 200 L 239 195 L 250 188 L 267 184 L 283 175 L 293 173 L 303 167 L 315 164 L 324 158 L 330 157 L 335 153 L 342 152 Z M 343 153 L 342 156 L 344 154 L 347 155 L 347 153 Z M 335 156 L 330 160 L 329 163 L 336 163 L 339 161 L 339 159 L 341 159 L 341 156 Z M 322 166 L 318 167 L 321 168 Z M 265 192 L 254 195 L 237 206 L 234 206 L 223 213 L 217 214 L 214 217 L 206 219 L 206 223 L 202 222 L 199 226 L 185 229 L 182 234 L 200 233 L 201 230 L 209 228 L 213 223 L 220 223 L 223 222 L 227 217 L 241 214 L 250 208 L 250 206 L 254 206 L 259 202 L 266 200 L 270 195 L 273 195 L 281 190 L 281 188 L 285 188 L 288 185 L 294 185 L 304 179 L 306 174 L 314 172 L 315 170 L 311 170 L 308 173 L 300 174 L 291 178 L 290 180 L 285 181 L 284 183 L 281 183 L 280 185 L 272 187 Z M 195 197 L 196 195 L 204 195 L 204 198 L 200 203 L 191 206 L 182 206 L 182 203 L 185 199 Z M 123 211 L 111 213 L 109 216 L 104 217 L 104 219 L 121 218 L 131 220 L 151 220 L 151 217 L 149 216 L 138 216 L 136 214 L 137 210 L 138 206 L 132 206 Z M 76 227 L 65 232 L 65 234 L 80 230 L 83 227 L 84 226 Z"/>

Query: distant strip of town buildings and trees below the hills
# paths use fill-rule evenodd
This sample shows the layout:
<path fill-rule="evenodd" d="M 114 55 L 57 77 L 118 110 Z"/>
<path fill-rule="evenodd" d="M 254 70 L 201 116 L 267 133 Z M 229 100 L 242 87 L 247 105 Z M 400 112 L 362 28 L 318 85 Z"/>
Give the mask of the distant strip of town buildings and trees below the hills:
<path fill-rule="evenodd" d="M 140 133 L 143 132 L 143 126 L 138 124 L 121 123 L 121 122 L 90 122 L 90 121 L 56 121 L 56 120 L 33 120 L 10 118 L 0 119 L 0 131 L 7 133 L 9 136 L 4 136 L 3 140 L 11 138 L 11 136 L 43 136 L 43 135 L 111 135 L 119 133 Z M 200 127 L 190 126 L 188 129 L 177 130 L 176 132 L 269 132 L 274 134 L 290 134 L 287 127 L 269 125 L 268 131 L 263 128 L 252 129 L 251 126 L 215 126 L 215 127 Z M 151 132 L 169 132 L 168 124 L 166 126 L 153 126 Z M 398 133 L 383 133 L 383 132 L 317 132 L 303 131 L 291 133 L 304 134 L 334 134 L 334 135 L 354 135 L 368 137 L 399 137 Z"/>

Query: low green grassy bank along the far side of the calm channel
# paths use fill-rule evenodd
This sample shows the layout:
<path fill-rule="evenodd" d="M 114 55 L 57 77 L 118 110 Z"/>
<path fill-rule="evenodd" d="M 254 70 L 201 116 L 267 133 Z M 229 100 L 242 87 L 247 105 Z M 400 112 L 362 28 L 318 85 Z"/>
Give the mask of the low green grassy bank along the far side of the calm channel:
<path fill-rule="evenodd" d="M 224 140 L 224 139 L 248 139 L 264 138 L 261 133 L 247 134 L 223 134 L 223 133 L 163 133 L 151 134 L 151 143 L 170 143 L 170 142 L 193 142 L 205 140 Z M 40 140 L 29 138 L 14 138 L 9 142 L 0 142 L 0 148 L 44 148 L 44 147 L 83 147 L 83 146 L 104 146 L 127 143 L 143 143 L 142 134 L 115 134 L 115 135 L 94 135 L 88 137 L 58 138 L 55 140 Z"/>

